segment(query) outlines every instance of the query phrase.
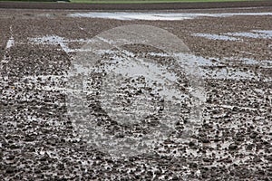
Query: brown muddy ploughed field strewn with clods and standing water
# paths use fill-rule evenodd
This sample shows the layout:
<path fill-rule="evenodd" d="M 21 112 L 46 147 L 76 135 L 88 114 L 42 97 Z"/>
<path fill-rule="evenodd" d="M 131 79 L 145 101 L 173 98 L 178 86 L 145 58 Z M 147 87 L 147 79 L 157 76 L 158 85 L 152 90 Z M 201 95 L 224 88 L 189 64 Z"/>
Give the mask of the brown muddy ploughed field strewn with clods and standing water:
<path fill-rule="evenodd" d="M 2 9 L 0 22 L 1 180 L 272 179 L 271 7 Z M 168 31 L 184 52 L 107 48 L 122 25 Z"/>

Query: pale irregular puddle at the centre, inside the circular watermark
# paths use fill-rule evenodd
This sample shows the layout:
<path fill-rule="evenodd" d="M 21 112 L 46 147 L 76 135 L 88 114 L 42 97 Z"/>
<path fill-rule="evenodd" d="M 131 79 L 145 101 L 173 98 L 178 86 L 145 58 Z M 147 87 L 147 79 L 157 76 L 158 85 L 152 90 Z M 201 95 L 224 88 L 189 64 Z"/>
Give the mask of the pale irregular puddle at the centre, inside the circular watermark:
<path fill-rule="evenodd" d="M 117 52 L 118 53 L 118 52 Z M 122 52 L 125 57 L 114 56 L 113 60 L 106 62 L 107 65 L 103 67 L 103 71 L 119 74 L 123 77 L 139 77 L 145 75 L 144 87 L 154 87 L 154 83 L 157 86 L 155 92 L 159 92 L 160 96 L 166 100 L 172 100 L 173 97 L 184 99 L 188 97 L 186 94 L 181 94 L 179 90 L 172 89 L 175 87 L 175 82 L 178 81 L 178 77 L 175 73 L 167 71 L 163 66 L 158 63 L 148 62 L 143 59 L 133 58 L 131 61 L 131 52 Z"/>

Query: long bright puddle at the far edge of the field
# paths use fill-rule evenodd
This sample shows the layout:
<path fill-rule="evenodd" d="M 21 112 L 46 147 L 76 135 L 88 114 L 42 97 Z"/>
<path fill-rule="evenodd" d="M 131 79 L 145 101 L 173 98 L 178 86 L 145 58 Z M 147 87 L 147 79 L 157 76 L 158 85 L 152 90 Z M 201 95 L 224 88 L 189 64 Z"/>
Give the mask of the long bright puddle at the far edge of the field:
<path fill-rule="evenodd" d="M 223 14 L 198 14 L 198 13 L 75 13 L 68 14 L 69 17 L 89 17 L 89 18 L 105 18 L 116 20 L 149 20 L 149 21 L 178 21 L 186 19 L 194 19 L 198 17 L 228 17 L 233 15 L 272 15 L 267 13 L 223 13 Z"/>

